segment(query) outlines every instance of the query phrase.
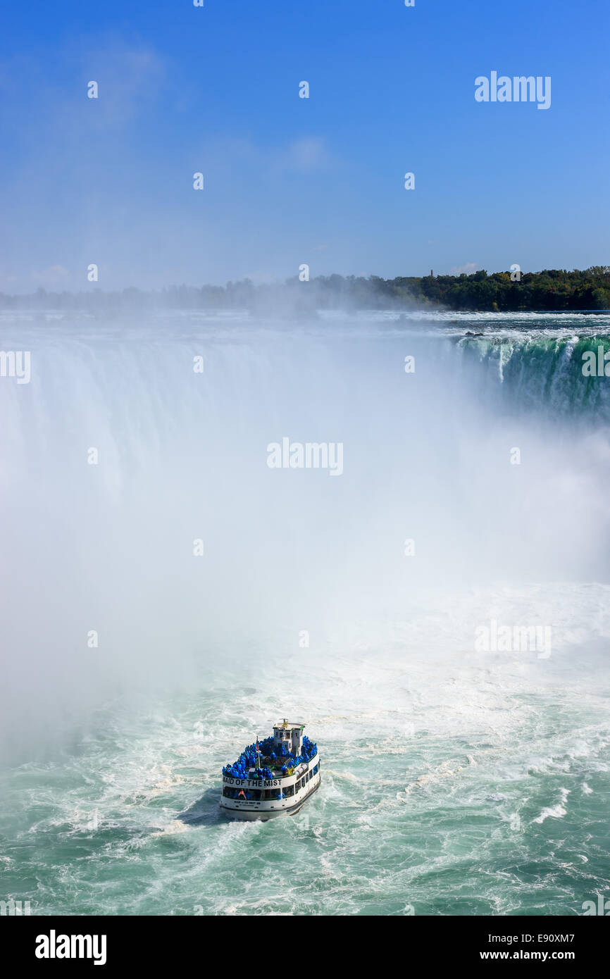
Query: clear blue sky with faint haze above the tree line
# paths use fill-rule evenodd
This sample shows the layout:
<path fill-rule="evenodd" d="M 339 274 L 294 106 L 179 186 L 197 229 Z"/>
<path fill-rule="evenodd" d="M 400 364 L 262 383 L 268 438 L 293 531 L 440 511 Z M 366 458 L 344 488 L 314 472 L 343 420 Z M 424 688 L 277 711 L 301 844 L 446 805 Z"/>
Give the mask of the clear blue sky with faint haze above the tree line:
<path fill-rule="evenodd" d="M 607 0 L 5 5 L 0 290 L 610 263 L 609 27 Z M 492 70 L 550 75 L 550 108 L 477 103 Z"/>

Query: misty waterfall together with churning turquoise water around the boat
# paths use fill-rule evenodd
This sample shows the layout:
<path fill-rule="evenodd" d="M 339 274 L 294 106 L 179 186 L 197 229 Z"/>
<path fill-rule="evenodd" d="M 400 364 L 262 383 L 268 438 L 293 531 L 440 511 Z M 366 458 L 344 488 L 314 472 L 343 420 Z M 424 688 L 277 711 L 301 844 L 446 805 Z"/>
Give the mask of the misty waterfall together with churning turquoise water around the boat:
<path fill-rule="evenodd" d="M 590 320 L 6 322 L 32 381 L 0 393 L 20 515 L 0 898 L 555 915 L 605 893 L 610 452 L 572 355 L 610 323 Z M 343 440 L 344 476 L 270 471 L 284 435 Z M 493 620 L 552 629 L 552 651 L 477 648 Z M 228 821 L 222 765 L 289 716 L 320 791 Z"/>

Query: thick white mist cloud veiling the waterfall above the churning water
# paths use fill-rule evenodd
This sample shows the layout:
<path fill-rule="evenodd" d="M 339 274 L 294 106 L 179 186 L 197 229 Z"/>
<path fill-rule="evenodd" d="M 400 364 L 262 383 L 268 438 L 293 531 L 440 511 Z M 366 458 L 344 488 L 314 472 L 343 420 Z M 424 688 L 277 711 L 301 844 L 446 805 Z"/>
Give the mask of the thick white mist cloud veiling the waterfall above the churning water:
<path fill-rule="evenodd" d="M 47 318 L 4 348 L 31 352 L 0 385 L 10 758 L 222 664 L 296 675 L 431 596 L 607 581 L 607 429 L 524 410 L 445 334 Z M 342 474 L 269 468 L 285 438 L 341 443 Z"/>

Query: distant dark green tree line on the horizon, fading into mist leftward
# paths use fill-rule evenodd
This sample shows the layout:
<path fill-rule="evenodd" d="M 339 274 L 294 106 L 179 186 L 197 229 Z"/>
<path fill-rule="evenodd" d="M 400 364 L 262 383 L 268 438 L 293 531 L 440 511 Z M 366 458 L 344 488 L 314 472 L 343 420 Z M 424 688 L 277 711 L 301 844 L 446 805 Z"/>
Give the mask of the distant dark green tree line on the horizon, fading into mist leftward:
<path fill-rule="evenodd" d="M 515 275 L 513 273 L 513 279 Z M 147 309 L 248 309 L 254 313 L 305 315 L 316 309 L 408 309 L 421 306 L 465 311 L 610 309 L 610 266 L 581 271 L 547 268 L 524 272 L 481 269 L 470 275 L 318 276 L 279 284 L 255 285 L 250 279 L 226 286 L 170 286 L 160 291 L 123 289 L 53 293 L 38 289 L 29 296 L 0 293 L 1 309 L 62 309 L 109 313 Z"/>

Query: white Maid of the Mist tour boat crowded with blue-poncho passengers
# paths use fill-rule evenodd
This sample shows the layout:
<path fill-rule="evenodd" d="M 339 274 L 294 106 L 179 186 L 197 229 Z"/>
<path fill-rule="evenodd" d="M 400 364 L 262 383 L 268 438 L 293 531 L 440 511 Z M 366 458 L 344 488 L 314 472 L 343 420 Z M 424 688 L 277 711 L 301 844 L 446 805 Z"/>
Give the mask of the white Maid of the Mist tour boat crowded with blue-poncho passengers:
<path fill-rule="evenodd" d="M 304 727 L 284 719 L 222 769 L 220 808 L 227 816 L 265 820 L 299 812 L 321 778 L 317 745 Z"/>

